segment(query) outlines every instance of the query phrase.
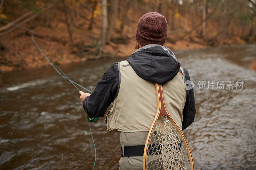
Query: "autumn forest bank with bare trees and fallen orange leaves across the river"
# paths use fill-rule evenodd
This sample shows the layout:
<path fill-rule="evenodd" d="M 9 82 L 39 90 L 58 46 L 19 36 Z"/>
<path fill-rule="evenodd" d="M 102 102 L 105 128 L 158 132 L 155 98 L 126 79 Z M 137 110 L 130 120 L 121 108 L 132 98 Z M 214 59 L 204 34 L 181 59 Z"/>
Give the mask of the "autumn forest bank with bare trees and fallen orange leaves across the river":
<path fill-rule="evenodd" d="M 256 42 L 255 0 L 1 0 L 0 19 L 36 32 L 55 64 L 128 57 L 142 15 L 168 22 L 172 50 Z M 0 71 L 42 67 L 48 61 L 30 32 L 0 21 Z M 256 58 L 252 63 L 256 70 Z"/>

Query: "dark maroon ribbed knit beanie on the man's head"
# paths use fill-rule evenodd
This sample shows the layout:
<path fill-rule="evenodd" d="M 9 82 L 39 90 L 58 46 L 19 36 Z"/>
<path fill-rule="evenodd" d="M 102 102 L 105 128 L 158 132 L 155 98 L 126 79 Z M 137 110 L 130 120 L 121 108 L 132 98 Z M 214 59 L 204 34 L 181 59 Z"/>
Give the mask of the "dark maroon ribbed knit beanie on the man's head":
<path fill-rule="evenodd" d="M 157 12 L 148 12 L 143 15 L 137 26 L 136 40 L 141 46 L 148 44 L 164 45 L 167 38 L 167 21 Z"/>

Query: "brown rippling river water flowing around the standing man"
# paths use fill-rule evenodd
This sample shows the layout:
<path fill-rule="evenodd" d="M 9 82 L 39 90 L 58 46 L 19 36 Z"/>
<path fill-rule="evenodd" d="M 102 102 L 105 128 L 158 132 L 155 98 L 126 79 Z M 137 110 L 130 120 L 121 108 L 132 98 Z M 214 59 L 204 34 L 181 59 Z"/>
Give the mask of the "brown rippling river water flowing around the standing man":
<path fill-rule="evenodd" d="M 250 69 L 256 45 L 177 51 L 175 55 L 195 83 L 196 118 L 183 131 L 195 169 L 256 169 L 256 72 Z M 60 68 L 93 90 L 112 63 L 121 60 Z M 205 89 L 200 86 L 203 81 Z M 207 89 L 209 81 L 215 83 L 214 89 Z M 218 81 L 225 81 L 224 89 L 216 89 Z M 226 89 L 227 81 L 244 81 L 243 89 Z M 87 114 L 67 80 L 52 67 L 43 67 L 1 73 L 0 86 L 0 169 L 92 169 L 94 148 Z M 119 133 L 108 132 L 104 118 L 91 127 L 97 151 L 95 169 L 118 169 Z"/>

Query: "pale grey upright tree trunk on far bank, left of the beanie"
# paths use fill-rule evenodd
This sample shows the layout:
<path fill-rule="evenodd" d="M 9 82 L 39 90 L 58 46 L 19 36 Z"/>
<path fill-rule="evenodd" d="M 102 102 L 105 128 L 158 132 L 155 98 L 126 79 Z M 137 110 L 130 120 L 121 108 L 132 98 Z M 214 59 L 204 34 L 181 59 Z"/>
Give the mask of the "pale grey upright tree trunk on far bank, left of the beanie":
<path fill-rule="evenodd" d="M 98 51 L 99 56 L 104 53 L 104 44 L 106 42 L 106 26 L 108 19 L 108 8 L 107 8 L 107 0 L 102 0 L 102 25 L 101 25 L 101 33 L 98 41 Z"/>

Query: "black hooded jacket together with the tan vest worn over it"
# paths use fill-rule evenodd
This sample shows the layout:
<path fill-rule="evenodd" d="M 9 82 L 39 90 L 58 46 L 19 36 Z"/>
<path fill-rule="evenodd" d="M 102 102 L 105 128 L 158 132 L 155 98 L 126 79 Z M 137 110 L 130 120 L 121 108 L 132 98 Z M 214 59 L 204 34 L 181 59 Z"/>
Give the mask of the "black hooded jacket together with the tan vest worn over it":
<path fill-rule="evenodd" d="M 163 84 L 169 113 L 180 129 L 186 129 L 195 118 L 193 89 L 185 89 L 188 71 L 180 67 L 172 51 L 150 44 L 126 60 L 114 63 L 97 83 L 91 96 L 84 99 L 84 110 L 93 117 L 103 117 L 109 131 L 148 131 L 157 110 L 155 82 Z"/>

